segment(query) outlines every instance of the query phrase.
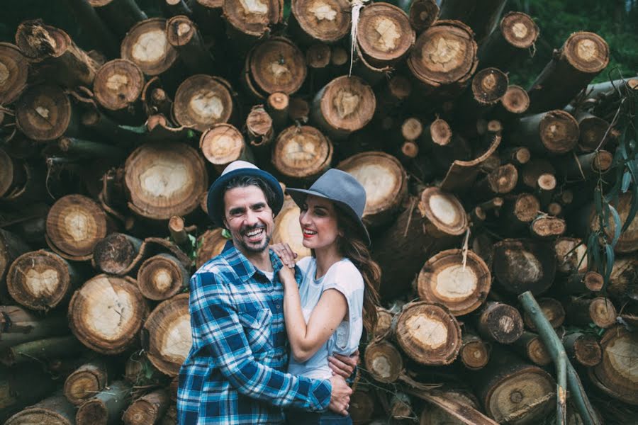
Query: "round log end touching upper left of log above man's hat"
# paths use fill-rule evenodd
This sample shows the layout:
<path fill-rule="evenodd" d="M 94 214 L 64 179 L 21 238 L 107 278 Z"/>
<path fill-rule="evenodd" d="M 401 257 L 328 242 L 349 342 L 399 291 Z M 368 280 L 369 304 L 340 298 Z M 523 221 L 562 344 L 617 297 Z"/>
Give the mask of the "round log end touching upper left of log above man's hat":
<path fill-rule="evenodd" d="M 179 125 L 206 131 L 226 123 L 233 114 L 230 84 L 219 77 L 197 74 L 185 79 L 175 92 L 172 114 Z"/>

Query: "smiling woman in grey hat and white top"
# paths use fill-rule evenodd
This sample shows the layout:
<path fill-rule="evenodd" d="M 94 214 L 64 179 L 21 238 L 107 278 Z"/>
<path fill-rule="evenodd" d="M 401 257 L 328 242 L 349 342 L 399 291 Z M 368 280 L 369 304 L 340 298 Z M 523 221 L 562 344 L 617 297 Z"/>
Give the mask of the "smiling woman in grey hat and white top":
<path fill-rule="evenodd" d="M 328 356 L 351 355 L 363 327 L 376 324 L 376 286 L 381 269 L 371 260 L 370 238 L 361 218 L 366 193 L 350 174 L 328 170 L 310 189 L 289 188 L 301 215 L 303 246 L 312 256 L 301 259 L 303 281 L 294 278 L 293 252 L 287 244 L 273 246 L 284 265 L 284 317 L 291 346 L 288 371 L 308 378 L 330 378 Z M 352 424 L 349 416 L 332 412 L 290 411 L 289 424 Z"/>

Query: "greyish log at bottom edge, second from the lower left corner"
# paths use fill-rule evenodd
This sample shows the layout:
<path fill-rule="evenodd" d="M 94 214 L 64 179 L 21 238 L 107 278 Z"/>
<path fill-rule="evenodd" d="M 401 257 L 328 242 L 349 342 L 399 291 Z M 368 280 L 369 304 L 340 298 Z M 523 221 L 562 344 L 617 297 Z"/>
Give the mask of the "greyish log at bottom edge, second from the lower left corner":
<path fill-rule="evenodd" d="M 82 404 L 75 414 L 77 425 L 119 424 L 122 412 L 129 404 L 131 387 L 118 380 L 108 385 L 92 399 Z"/>

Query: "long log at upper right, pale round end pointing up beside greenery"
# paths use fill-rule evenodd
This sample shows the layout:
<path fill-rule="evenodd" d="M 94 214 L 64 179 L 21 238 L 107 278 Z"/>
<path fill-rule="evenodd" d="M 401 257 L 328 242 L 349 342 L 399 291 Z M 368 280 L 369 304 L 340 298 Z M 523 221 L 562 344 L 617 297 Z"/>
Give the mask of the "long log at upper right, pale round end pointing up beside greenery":
<path fill-rule="evenodd" d="M 607 42 L 594 33 L 573 33 L 527 90 L 530 112 L 563 108 L 609 63 Z"/>

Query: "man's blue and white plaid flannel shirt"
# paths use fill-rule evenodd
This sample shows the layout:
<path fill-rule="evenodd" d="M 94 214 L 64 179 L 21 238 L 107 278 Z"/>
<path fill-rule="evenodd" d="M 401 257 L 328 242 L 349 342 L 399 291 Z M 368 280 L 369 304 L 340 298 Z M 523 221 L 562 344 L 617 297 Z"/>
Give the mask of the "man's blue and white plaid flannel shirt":
<path fill-rule="evenodd" d="M 272 283 L 228 242 L 191 278 L 193 345 L 179 370 L 178 424 L 280 424 L 282 407 L 328 407 L 330 380 L 286 373 L 282 263 L 272 251 L 270 259 Z"/>

